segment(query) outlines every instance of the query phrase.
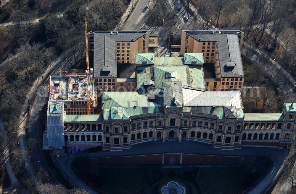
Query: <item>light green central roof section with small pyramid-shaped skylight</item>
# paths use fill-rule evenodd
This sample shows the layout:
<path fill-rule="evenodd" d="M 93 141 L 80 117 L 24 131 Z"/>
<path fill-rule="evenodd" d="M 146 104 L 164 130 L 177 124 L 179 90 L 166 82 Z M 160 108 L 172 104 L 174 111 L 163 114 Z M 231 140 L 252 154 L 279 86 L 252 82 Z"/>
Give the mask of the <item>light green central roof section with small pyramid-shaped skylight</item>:
<path fill-rule="evenodd" d="M 161 87 L 163 81 L 181 81 L 182 85 L 187 85 L 186 67 L 154 66 L 154 78 L 155 87 Z"/>

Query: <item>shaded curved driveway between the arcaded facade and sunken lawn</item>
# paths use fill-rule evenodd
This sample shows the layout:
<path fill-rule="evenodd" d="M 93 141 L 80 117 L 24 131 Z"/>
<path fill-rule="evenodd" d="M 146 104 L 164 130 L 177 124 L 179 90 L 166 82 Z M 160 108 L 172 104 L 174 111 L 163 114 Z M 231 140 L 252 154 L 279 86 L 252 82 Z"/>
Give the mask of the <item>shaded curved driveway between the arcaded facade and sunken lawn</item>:
<path fill-rule="evenodd" d="M 89 188 L 83 181 L 73 172 L 70 167 L 71 162 L 78 158 L 96 158 L 105 156 L 129 156 L 141 154 L 161 154 L 161 153 L 189 153 L 189 154 L 206 154 L 206 155 L 223 155 L 223 156 L 266 156 L 272 159 L 273 167 L 268 172 L 263 181 L 259 183 L 250 194 L 260 193 L 266 188 L 269 183 L 274 179 L 281 164 L 288 154 L 288 150 L 278 148 L 259 148 L 259 147 L 242 147 L 240 150 L 225 151 L 213 148 L 212 145 L 197 142 L 197 141 L 149 141 L 141 144 L 131 146 L 131 149 L 110 152 L 102 151 L 90 154 L 75 154 L 74 156 L 67 156 L 64 158 L 56 158 L 59 165 L 64 169 L 64 172 L 71 180 L 80 188 L 83 188 L 91 194 L 97 193 Z"/>

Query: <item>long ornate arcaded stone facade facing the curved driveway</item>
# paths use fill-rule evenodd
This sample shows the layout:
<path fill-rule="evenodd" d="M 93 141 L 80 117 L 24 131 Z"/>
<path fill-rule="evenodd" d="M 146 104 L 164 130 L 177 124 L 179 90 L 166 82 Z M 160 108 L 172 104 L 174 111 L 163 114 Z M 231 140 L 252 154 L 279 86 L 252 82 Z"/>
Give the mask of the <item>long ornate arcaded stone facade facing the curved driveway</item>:
<path fill-rule="evenodd" d="M 96 124 L 66 121 L 65 141 L 71 147 L 102 145 L 104 150 L 110 151 L 128 149 L 146 141 L 192 140 L 220 149 L 240 149 L 241 146 L 289 148 L 293 142 L 296 108 L 291 104 L 284 104 L 283 113 L 245 114 L 242 119 L 219 119 L 196 112 L 167 107 L 164 113 L 137 115 L 127 121 L 104 120 Z"/>

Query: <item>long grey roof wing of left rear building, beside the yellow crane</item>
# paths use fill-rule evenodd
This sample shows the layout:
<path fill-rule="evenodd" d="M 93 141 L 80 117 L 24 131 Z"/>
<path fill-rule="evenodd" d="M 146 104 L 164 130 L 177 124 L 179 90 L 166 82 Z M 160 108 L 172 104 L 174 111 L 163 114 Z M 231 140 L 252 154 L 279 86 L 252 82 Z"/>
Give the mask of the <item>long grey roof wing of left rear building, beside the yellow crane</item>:
<path fill-rule="evenodd" d="M 116 78 L 115 41 L 106 35 L 94 34 L 94 48 L 94 78 Z"/>

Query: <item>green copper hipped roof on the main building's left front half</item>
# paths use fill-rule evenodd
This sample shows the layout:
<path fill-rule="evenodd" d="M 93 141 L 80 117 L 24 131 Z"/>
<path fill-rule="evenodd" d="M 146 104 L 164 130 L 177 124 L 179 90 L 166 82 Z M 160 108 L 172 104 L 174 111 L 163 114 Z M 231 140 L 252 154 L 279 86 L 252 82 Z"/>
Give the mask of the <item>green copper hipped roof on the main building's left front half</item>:
<path fill-rule="evenodd" d="M 155 107 L 161 106 L 155 102 L 150 102 L 146 95 L 138 92 L 103 92 L 102 93 L 103 108 L 111 107 Z"/>

